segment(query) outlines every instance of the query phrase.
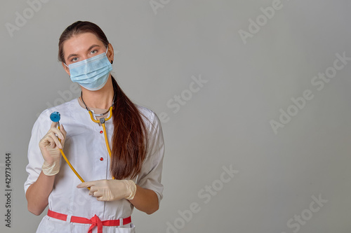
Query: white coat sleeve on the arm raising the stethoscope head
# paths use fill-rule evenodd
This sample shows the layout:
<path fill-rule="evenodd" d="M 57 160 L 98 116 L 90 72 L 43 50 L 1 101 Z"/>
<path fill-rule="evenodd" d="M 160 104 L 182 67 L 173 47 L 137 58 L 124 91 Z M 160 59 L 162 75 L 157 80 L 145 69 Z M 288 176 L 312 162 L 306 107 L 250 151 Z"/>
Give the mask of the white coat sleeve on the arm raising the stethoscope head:
<path fill-rule="evenodd" d="M 28 164 L 26 167 L 26 171 L 28 174 L 27 181 L 25 181 L 25 192 L 27 192 L 27 189 L 29 188 L 32 183 L 37 181 L 37 178 L 41 172 L 41 166 L 44 163 L 44 158 L 41 155 L 41 151 L 39 148 L 39 141 L 42 139 L 42 137 L 48 132 L 48 129 L 51 127 L 51 123 L 48 117 L 47 111 L 44 111 L 39 115 L 39 118 L 37 121 L 34 123 L 34 126 L 32 128 L 32 136 L 29 141 L 29 146 L 28 146 Z"/>

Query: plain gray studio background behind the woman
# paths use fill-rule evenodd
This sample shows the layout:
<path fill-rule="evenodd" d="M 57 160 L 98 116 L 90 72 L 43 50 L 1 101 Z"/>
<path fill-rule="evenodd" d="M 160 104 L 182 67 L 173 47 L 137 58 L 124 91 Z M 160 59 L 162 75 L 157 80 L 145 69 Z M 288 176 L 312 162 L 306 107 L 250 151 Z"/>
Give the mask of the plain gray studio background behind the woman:
<path fill-rule="evenodd" d="M 72 82 L 57 62 L 58 38 L 77 20 L 98 24 L 119 51 L 113 75 L 126 94 L 168 114 L 164 199 L 151 216 L 134 211 L 137 232 L 350 232 L 351 61 L 322 90 L 311 83 L 333 66 L 336 53 L 351 57 L 350 1 L 282 0 L 271 19 L 260 8 L 274 1 L 154 2 L 163 7 L 48 1 L 32 15 L 25 11 L 27 22 L 11 37 L 6 23 L 15 25 L 16 12 L 30 6 L 1 1 L 0 187 L 6 152 L 13 185 L 11 229 L 0 195 L 1 232 L 35 232 L 41 220 L 27 211 L 23 190 L 27 146 L 41 111 L 79 95 L 69 91 Z M 239 30 L 249 31 L 256 17 L 267 22 L 244 43 Z M 190 98 L 192 76 L 208 82 Z M 291 107 L 305 90 L 314 98 Z M 187 101 L 174 113 L 169 103 L 182 93 Z M 289 107 L 298 113 L 274 134 L 270 121 Z M 219 181 L 230 165 L 239 173 Z M 319 196 L 327 200 L 320 206 L 313 199 Z M 182 220 L 178 211 L 194 202 L 198 213 Z M 304 222 L 291 220 L 289 227 L 298 216 Z"/>

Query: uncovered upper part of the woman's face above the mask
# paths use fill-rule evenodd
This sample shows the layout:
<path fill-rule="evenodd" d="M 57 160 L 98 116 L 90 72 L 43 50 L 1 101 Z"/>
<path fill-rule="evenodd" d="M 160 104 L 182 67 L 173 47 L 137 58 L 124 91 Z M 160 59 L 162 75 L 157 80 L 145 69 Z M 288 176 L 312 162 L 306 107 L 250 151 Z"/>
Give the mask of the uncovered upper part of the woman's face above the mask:
<path fill-rule="evenodd" d="M 65 56 L 65 63 L 67 66 L 75 62 L 81 62 L 90 57 L 106 52 L 107 48 L 104 43 L 90 32 L 81 33 L 72 36 L 65 43 L 63 43 L 63 54 Z M 113 48 L 109 44 L 107 58 L 113 60 Z M 69 68 L 62 62 L 62 66 L 69 74 Z"/>

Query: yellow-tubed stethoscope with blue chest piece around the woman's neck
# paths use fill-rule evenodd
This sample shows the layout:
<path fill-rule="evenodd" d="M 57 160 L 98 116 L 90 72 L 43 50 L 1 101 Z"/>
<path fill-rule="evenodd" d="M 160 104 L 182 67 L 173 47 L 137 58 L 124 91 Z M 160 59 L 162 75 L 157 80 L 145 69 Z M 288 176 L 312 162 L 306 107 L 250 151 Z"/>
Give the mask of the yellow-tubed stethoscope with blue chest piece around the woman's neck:
<path fill-rule="evenodd" d="M 105 113 L 102 113 L 102 114 L 95 114 L 93 113 L 93 111 L 91 111 L 88 106 L 86 106 L 86 104 L 84 103 L 84 100 L 83 100 L 83 92 L 81 92 L 81 101 L 83 102 L 84 106 L 86 107 L 86 110 L 88 111 L 90 117 L 91 117 L 91 120 L 95 123 L 100 123 L 102 125 L 102 128 L 103 128 L 103 132 L 104 132 L 104 136 L 105 136 L 105 143 L 106 143 L 106 147 L 107 147 L 107 151 L 110 155 L 110 159 L 111 159 L 111 149 L 110 149 L 110 145 L 109 145 L 109 142 L 108 142 L 108 139 L 107 139 L 107 133 L 106 133 L 106 127 L 105 127 L 105 122 L 107 120 L 110 120 L 112 118 L 112 109 L 113 109 L 113 106 L 114 106 L 114 101 L 116 100 L 116 92 L 114 92 L 114 97 L 113 97 L 113 101 L 112 101 L 112 105 L 110 106 L 109 110 Z M 110 116 L 108 118 L 100 118 L 99 120 L 95 120 L 93 118 L 93 115 L 95 115 L 95 117 L 100 117 L 102 115 L 105 115 L 106 113 L 110 113 Z M 58 122 L 58 129 L 60 129 L 60 119 L 61 119 L 61 115 L 59 112 L 55 111 L 53 113 L 51 113 L 50 115 L 50 119 L 53 121 L 53 122 Z M 61 139 L 58 139 L 59 141 L 61 141 Z M 60 148 L 59 148 L 60 149 Z M 81 182 L 85 182 L 83 178 L 81 178 L 81 176 L 78 174 L 78 172 L 76 171 L 76 169 L 74 169 L 74 167 L 72 166 L 72 164 L 69 162 L 69 160 L 67 159 L 65 153 L 63 152 L 62 149 L 60 149 L 60 153 L 62 155 L 62 157 L 64 158 L 64 160 L 67 162 L 68 166 L 72 169 L 72 171 L 74 172 L 74 174 L 76 174 L 76 176 L 79 178 L 79 180 Z M 88 188 L 90 190 L 90 188 Z"/>

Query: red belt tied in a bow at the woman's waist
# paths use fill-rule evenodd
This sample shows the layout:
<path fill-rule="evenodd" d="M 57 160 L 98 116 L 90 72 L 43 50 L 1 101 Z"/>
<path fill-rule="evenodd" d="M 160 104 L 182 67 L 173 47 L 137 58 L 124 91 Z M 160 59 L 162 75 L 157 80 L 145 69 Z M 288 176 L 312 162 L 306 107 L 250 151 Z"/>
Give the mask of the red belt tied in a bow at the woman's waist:
<path fill-rule="evenodd" d="M 93 232 L 94 227 L 98 227 L 98 233 L 102 233 L 102 226 L 110 226 L 110 227 L 117 227 L 121 225 L 126 225 L 128 223 L 131 223 L 131 216 L 128 218 L 120 218 L 117 220 L 100 220 L 98 216 L 93 216 L 93 218 L 88 219 L 88 218 L 81 218 L 77 216 L 71 216 L 70 220 L 67 220 L 67 214 L 63 213 L 58 213 L 54 212 L 51 210 L 48 210 L 48 216 L 51 218 L 56 218 L 62 221 L 66 221 L 68 223 L 85 223 L 85 224 L 91 224 L 89 227 L 88 233 Z"/>

